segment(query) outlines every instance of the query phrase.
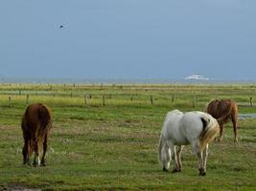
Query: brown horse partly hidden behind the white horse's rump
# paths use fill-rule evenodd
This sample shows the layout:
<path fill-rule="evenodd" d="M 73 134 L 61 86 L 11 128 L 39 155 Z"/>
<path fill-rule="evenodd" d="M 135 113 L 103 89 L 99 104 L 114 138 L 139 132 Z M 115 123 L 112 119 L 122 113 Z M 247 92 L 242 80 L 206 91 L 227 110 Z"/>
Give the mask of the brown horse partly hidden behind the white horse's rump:
<path fill-rule="evenodd" d="M 212 117 L 215 117 L 220 124 L 220 138 L 222 137 L 223 124 L 232 121 L 234 128 L 235 141 L 238 141 L 238 106 L 235 101 L 229 99 L 215 99 L 211 101 L 207 108 L 206 112 Z"/>

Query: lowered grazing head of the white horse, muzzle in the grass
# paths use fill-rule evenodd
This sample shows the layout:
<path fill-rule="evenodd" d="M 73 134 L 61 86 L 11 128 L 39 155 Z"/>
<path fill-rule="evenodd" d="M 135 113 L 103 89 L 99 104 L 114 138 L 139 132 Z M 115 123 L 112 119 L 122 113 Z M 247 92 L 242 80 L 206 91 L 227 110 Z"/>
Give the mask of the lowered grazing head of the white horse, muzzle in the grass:
<path fill-rule="evenodd" d="M 167 145 L 162 134 L 160 135 L 159 145 L 158 145 L 158 159 L 163 166 L 163 171 L 168 171 L 171 161 L 171 150 Z"/>

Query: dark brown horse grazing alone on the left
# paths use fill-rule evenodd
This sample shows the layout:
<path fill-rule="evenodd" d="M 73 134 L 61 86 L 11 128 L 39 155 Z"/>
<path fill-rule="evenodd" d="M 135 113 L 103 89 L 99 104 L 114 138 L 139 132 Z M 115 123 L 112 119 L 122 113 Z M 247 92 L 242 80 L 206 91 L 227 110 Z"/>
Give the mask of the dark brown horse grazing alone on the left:
<path fill-rule="evenodd" d="M 40 165 L 39 152 L 43 147 L 41 165 L 45 166 L 47 139 L 52 127 L 50 109 L 41 103 L 31 104 L 27 107 L 22 118 L 21 128 L 24 138 L 22 150 L 23 163 L 30 164 L 30 157 L 35 152 L 34 166 Z"/>

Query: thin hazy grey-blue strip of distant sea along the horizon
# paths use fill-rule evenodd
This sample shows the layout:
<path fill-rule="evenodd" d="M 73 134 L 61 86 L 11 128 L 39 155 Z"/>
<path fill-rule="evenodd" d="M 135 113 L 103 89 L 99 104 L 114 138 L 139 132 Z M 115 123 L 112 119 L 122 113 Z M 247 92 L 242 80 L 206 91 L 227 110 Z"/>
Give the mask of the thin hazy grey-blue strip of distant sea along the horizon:
<path fill-rule="evenodd" d="M 223 79 L 153 79 L 153 78 L 78 78 L 78 77 L 0 77 L 0 83 L 35 83 L 35 84 L 254 84 L 256 80 Z"/>

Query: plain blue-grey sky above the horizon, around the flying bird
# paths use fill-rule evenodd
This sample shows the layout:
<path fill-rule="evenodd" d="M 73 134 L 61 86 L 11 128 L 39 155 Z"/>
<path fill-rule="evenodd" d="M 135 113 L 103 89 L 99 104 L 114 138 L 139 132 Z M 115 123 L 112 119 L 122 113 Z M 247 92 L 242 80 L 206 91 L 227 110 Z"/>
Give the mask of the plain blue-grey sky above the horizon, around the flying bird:
<path fill-rule="evenodd" d="M 255 19 L 255 0 L 2 0 L 0 76 L 256 80 Z"/>

